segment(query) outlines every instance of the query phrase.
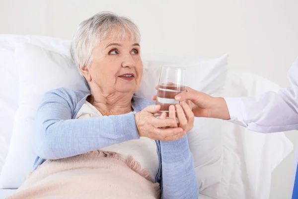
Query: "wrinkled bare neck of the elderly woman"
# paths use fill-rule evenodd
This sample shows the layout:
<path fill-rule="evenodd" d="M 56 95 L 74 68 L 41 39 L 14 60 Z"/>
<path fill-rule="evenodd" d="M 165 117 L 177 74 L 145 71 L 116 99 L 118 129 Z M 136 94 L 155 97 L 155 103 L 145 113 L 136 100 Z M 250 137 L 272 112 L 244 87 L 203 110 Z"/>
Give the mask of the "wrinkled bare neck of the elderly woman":
<path fill-rule="evenodd" d="M 92 93 L 87 101 L 91 103 L 102 115 L 119 115 L 131 112 L 133 94 L 100 94 Z"/>

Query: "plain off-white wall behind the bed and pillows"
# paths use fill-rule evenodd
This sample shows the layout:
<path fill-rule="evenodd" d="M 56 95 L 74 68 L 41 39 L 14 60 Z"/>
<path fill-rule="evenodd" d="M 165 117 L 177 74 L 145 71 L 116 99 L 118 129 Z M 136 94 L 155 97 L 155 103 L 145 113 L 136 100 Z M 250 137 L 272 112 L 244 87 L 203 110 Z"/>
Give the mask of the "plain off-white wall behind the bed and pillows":
<path fill-rule="evenodd" d="M 0 34 L 71 39 L 98 11 L 132 18 L 143 52 L 216 57 L 282 87 L 298 57 L 298 0 L 0 0 Z M 295 147 L 298 132 L 287 132 Z M 270 199 L 290 199 L 294 152 L 276 168 Z"/>

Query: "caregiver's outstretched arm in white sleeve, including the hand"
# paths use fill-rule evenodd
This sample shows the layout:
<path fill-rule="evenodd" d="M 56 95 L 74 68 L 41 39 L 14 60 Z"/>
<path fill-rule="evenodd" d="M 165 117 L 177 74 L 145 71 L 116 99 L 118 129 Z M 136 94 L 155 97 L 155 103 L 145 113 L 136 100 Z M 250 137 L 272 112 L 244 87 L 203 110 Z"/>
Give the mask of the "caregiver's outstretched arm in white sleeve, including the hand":
<path fill-rule="evenodd" d="M 195 104 L 196 116 L 229 119 L 257 132 L 280 132 L 298 129 L 298 59 L 288 74 L 291 86 L 278 93 L 267 92 L 255 97 L 213 98 L 191 91 L 180 100 Z M 188 97 L 189 96 L 189 97 Z"/>

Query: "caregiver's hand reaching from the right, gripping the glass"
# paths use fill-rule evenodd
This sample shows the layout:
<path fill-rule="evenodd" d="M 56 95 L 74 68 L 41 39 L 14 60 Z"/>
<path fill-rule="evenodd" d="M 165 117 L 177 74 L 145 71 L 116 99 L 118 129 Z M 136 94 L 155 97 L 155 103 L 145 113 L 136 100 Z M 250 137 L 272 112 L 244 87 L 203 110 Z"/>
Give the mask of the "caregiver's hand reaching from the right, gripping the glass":
<path fill-rule="evenodd" d="M 157 89 L 157 87 L 155 89 Z M 156 96 L 153 96 L 152 100 L 156 100 Z M 181 102 L 186 100 L 186 103 L 192 108 L 196 117 L 230 119 L 224 98 L 212 97 L 186 87 L 186 92 L 176 95 L 175 100 Z"/>

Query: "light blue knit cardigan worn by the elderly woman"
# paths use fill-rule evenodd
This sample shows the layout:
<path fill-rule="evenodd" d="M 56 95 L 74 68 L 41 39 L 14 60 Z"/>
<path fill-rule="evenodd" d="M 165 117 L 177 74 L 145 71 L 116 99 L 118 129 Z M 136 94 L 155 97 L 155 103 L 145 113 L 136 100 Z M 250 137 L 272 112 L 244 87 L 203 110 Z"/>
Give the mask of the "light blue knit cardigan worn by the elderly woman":
<path fill-rule="evenodd" d="M 45 94 L 34 123 L 34 170 L 46 159 L 67 158 L 115 143 L 139 139 L 134 113 L 74 119 L 90 93 L 67 89 Z M 150 105 L 134 96 L 136 112 Z M 175 141 L 157 141 L 159 169 L 155 181 L 165 199 L 198 199 L 199 188 L 187 135 Z"/>

